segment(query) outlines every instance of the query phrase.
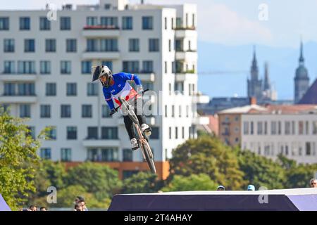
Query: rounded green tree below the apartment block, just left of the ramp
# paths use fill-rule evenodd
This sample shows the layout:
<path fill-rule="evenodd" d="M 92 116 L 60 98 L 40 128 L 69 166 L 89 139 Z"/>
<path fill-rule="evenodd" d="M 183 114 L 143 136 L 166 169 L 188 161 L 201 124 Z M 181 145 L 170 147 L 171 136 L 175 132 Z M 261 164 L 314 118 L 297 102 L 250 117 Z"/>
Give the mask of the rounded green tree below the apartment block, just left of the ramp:
<path fill-rule="evenodd" d="M 121 187 L 116 170 L 92 162 L 70 168 L 66 176 L 66 184 L 82 186 L 88 193 L 94 193 L 99 200 L 112 198 Z"/>

